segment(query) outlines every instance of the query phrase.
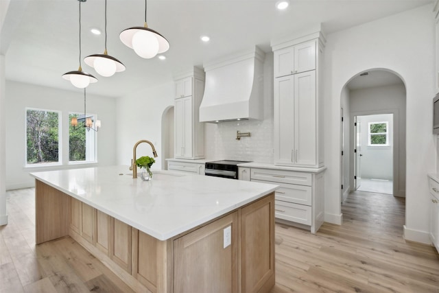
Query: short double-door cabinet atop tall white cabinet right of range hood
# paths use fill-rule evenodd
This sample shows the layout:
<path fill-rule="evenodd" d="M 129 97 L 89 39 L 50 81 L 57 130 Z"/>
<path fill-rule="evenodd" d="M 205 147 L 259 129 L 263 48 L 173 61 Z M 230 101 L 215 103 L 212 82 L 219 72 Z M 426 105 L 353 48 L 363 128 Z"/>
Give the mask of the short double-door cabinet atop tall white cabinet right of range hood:
<path fill-rule="evenodd" d="M 316 69 L 316 40 L 274 51 L 274 77 Z"/>

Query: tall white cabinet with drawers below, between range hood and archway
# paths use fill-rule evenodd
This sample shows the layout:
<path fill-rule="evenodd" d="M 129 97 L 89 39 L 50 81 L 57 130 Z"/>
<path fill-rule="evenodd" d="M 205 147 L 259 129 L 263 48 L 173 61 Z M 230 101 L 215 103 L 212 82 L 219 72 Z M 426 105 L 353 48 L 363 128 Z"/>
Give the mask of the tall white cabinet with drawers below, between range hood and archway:
<path fill-rule="evenodd" d="M 279 170 L 263 174 L 252 169 L 251 174 L 251 180 L 268 180 L 271 176 L 270 181 L 281 185 L 275 198 L 278 222 L 309 227 L 311 233 L 324 222 L 323 101 L 319 84 L 324 43 L 320 30 L 272 42 L 274 165 Z"/>

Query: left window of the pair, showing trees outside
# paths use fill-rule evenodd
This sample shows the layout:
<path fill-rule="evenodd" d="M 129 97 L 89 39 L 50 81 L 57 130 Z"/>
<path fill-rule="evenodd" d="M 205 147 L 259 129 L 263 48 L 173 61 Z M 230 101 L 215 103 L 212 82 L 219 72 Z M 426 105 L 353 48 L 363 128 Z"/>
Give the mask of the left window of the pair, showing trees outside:
<path fill-rule="evenodd" d="M 26 165 L 60 163 L 60 113 L 26 109 Z"/>

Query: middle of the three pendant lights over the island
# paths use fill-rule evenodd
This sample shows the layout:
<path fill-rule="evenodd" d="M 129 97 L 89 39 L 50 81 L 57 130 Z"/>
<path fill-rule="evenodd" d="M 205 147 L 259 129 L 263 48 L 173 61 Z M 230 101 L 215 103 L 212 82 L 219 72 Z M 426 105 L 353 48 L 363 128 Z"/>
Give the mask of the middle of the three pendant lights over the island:
<path fill-rule="evenodd" d="M 104 54 L 93 54 L 84 58 L 86 65 L 93 67 L 95 71 L 104 77 L 109 77 L 116 72 L 125 71 L 126 67 L 116 58 L 109 56 L 107 52 L 107 0 L 105 0 L 105 51 Z"/>

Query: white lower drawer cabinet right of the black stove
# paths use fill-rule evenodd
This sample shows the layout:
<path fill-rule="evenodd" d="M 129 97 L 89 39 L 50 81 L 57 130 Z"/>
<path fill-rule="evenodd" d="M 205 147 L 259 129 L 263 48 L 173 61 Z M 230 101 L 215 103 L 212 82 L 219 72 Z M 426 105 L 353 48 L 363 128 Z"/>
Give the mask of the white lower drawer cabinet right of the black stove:
<path fill-rule="evenodd" d="M 297 172 L 251 168 L 250 180 L 279 185 L 274 204 L 276 219 L 316 233 L 324 222 L 323 174 L 322 169 Z"/>

